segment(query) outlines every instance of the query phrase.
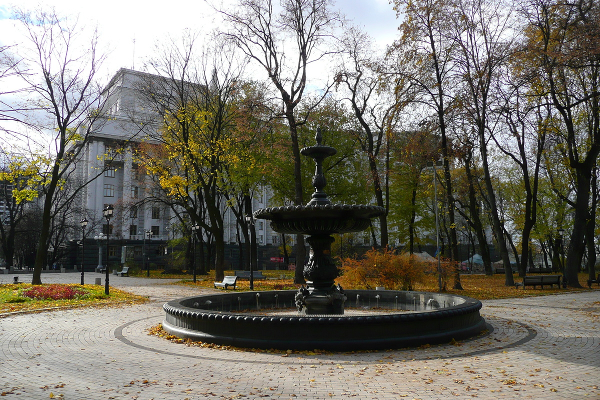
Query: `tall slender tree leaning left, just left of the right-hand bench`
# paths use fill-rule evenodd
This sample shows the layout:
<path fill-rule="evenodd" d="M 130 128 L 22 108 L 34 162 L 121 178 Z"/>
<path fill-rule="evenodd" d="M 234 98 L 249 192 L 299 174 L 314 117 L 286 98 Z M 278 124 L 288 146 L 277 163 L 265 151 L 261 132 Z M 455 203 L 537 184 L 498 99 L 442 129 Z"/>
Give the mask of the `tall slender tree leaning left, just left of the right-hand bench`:
<path fill-rule="evenodd" d="M 505 268 L 505 284 L 511 286 L 514 280 L 491 179 L 488 149 L 498 119 L 493 113 L 498 103 L 498 93 L 494 91 L 498 86 L 495 83 L 503 72 L 502 66 L 506 64 L 511 45 L 508 34 L 511 10 L 504 8 L 500 1 L 463 0 L 454 4 L 449 20 L 452 25 L 448 36 L 457 49 L 455 68 L 464 89 L 460 105 L 478 137 L 494 234 Z"/>

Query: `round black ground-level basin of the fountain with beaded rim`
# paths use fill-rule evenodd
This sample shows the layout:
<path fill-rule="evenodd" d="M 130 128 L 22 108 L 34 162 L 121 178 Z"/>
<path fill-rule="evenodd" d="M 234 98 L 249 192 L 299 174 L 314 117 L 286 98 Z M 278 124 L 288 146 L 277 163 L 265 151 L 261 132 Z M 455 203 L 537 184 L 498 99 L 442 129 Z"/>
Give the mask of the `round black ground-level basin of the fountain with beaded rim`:
<path fill-rule="evenodd" d="M 485 329 L 481 302 L 470 297 L 346 290 L 344 306 L 364 310 L 362 315 L 278 315 L 278 309 L 295 307 L 296 293 L 250 291 L 173 300 L 163 306 L 163 329 L 179 338 L 219 345 L 331 351 L 437 344 Z"/>

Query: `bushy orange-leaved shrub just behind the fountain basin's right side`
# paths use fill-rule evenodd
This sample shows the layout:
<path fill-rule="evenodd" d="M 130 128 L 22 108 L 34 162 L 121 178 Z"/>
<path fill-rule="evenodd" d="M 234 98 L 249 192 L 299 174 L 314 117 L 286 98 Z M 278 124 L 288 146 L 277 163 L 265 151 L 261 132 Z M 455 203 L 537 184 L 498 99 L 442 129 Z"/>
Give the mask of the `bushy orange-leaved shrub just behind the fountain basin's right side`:
<path fill-rule="evenodd" d="M 413 290 L 422 282 L 428 263 L 409 253 L 397 254 L 394 249 L 371 249 L 361 260 L 346 258 L 341 261 L 342 286 L 373 289 L 383 286 L 390 290 Z"/>

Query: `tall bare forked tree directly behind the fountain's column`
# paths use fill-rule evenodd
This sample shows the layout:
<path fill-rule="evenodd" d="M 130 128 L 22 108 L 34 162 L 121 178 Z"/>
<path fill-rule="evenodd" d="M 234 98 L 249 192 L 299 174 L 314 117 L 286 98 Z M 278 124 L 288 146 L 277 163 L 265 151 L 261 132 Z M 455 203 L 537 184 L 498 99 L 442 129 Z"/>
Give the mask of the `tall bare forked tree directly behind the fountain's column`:
<path fill-rule="evenodd" d="M 310 64 L 326 55 L 320 46 L 340 21 L 331 5 L 331 0 L 283 0 L 277 10 L 273 0 L 239 0 L 235 11 L 220 11 L 230 26 L 224 35 L 266 71 L 280 98 L 281 110 L 274 110 L 274 115 L 284 118 L 289 127 L 297 205 L 304 203 L 298 127 L 307 116 L 298 118 L 296 107 L 307 89 Z M 304 237 L 299 234 L 296 283 L 304 282 L 304 258 Z"/>

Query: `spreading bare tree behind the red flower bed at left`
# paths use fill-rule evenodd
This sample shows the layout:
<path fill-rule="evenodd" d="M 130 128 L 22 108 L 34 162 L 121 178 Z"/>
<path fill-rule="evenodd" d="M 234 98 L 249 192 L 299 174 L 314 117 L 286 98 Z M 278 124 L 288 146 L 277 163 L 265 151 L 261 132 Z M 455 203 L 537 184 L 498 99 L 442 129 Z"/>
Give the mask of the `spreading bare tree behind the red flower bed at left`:
<path fill-rule="evenodd" d="M 37 137 L 46 140 L 46 148 L 50 143 L 49 163 L 38 172 L 42 177 L 39 190 L 43 206 L 32 283 L 41 284 L 52 218 L 60 210 L 54 207 L 56 195 L 73 175 L 78 156 L 92 130 L 104 121 L 100 111 L 102 89 L 94 80 L 104 57 L 97 52 L 98 32 L 88 34 L 76 19 L 63 19 L 53 10 L 35 13 L 17 10 L 15 14 L 28 40 L 28 45 L 17 48 L 22 58 L 17 75 L 30 101 L 10 104 L 3 115 L 19 116 L 29 127 L 26 139 L 34 140 L 33 130 Z M 87 39 L 84 43 L 79 41 L 83 38 Z M 3 130 L 10 131 L 10 128 L 3 127 Z M 101 173 L 98 171 L 97 175 L 80 182 L 82 186 L 74 190 L 64 204 L 73 200 L 89 179 Z"/>

